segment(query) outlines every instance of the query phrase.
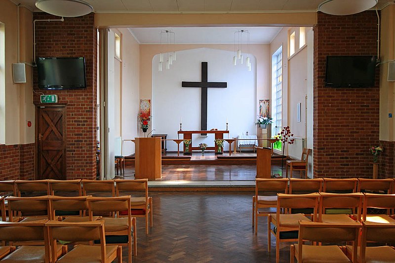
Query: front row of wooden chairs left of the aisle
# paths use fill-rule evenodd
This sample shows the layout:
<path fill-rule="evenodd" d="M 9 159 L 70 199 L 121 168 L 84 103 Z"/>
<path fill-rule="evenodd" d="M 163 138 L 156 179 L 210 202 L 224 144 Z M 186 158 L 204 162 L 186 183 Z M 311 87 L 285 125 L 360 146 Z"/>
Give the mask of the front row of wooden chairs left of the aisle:
<path fill-rule="evenodd" d="M 148 179 L 138 180 L 13 180 L 0 181 L 0 192 L 14 196 L 37 195 L 97 195 L 121 196 L 130 194 L 134 217 L 145 218 L 146 234 L 153 225 L 152 197 L 148 194 Z M 7 205 L 7 203 L 5 203 Z M 2 215 L 3 216 L 3 215 Z"/>

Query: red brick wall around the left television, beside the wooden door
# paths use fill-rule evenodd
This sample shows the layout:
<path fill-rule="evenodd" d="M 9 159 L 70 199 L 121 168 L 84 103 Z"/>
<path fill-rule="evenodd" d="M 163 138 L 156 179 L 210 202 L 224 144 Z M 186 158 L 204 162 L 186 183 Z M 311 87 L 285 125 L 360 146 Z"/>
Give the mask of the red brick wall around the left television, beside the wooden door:
<path fill-rule="evenodd" d="M 59 19 L 34 13 L 33 19 Z M 67 179 L 96 177 L 96 61 L 97 30 L 94 15 L 65 18 L 64 22 L 36 23 L 36 57 L 85 57 L 87 88 L 78 90 L 38 90 L 37 71 L 34 89 L 57 94 L 58 103 L 66 104 Z M 40 103 L 39 94 L 34 102 Z"/>

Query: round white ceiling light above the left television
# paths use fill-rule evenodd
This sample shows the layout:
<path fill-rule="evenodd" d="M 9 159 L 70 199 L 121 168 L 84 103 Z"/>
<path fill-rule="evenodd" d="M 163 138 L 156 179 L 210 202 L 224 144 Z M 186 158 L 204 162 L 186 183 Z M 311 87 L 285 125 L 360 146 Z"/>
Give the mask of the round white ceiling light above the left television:
<path fill-rule="evenodd" d="M 38 0 L 36 6 L 48 14 L 63 17 L 77 17 L 93 11 L 93 7 L 82 0 Z"/>

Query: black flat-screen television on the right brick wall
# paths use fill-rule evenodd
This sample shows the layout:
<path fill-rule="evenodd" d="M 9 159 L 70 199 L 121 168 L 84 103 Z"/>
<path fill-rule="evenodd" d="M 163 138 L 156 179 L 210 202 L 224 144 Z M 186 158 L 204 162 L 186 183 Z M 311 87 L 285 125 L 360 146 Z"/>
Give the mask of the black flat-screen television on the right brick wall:
<path fill-rule="evenodd" d="M 373 87 L 376 56 L 327 56 L 326 87 Z"/>

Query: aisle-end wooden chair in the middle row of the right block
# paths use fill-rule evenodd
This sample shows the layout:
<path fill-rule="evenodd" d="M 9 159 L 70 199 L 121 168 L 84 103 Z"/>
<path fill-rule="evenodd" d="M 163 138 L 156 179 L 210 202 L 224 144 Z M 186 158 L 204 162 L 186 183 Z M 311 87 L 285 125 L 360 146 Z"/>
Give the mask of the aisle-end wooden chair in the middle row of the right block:
<path fill-rule="evenodd" d="M 277 211 L 276 216 L 269 214 L 268 216 L 268 251 L 271 251 L 271 234 L 276 237 L 276 263 L 279 262 L 280 242 L 297 241 L 295 236 L 285 236 L 286 234 L 293 234 L 289 231 L 296 231 L 299 229 L 299 221 L 315 221 L 317 214 L 319 193 L 310 194 L 277 194 Z M 304 214 L 281 214 L 281 209 L 303 209 L 313 208 L 313 218 L 309 219 Z M 276 227 L 276 231 L 272 229 L 271 225 Z M 288 232 L 288 233 L 284 233 Z"/>

